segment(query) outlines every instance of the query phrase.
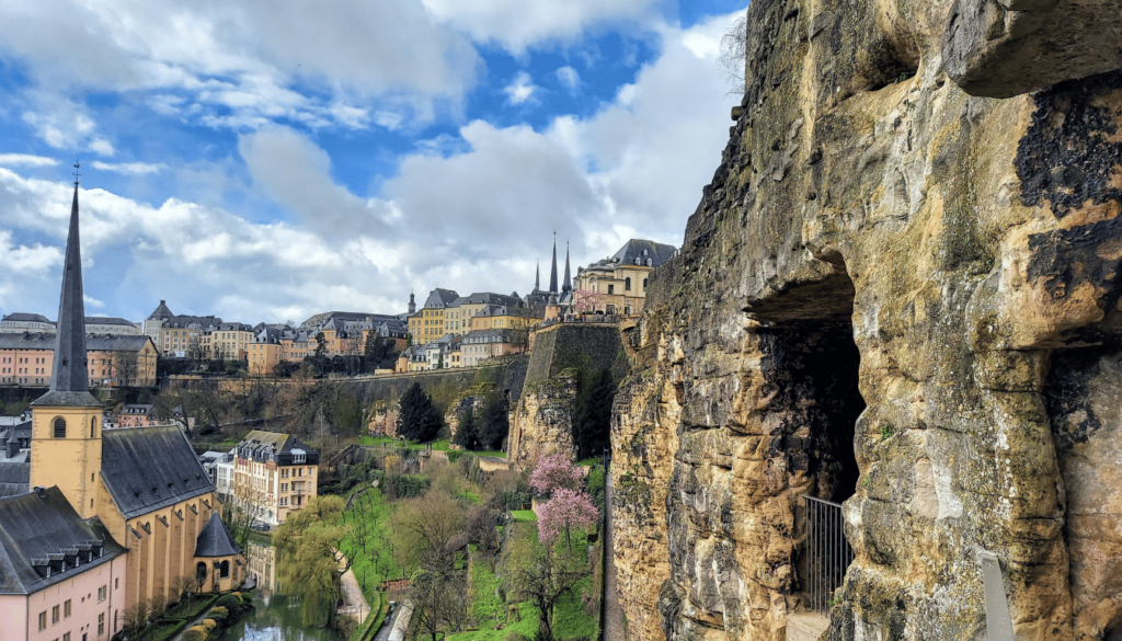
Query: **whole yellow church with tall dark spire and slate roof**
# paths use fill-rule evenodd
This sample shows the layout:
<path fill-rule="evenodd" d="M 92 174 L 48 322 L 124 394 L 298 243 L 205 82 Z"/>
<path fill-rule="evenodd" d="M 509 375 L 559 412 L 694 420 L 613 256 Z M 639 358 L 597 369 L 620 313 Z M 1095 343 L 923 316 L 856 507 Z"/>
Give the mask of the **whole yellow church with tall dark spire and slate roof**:
<path fill-rule="evenodd" d="M 196 556 L 217 498 L 180 428 L 102 431 L 103 406 L 89 391 L 76 186 L 64 265 L 50 388 L 31 404 L 30 486 L 57 487 L 80 516 L 96 516 L 128 550 L 121 611 L 169 596 L 178 577 L 229 589 L 240 583 L 237 551 L 218 566 Z M 212 575 L 215 567 L 221 576 Z"/>

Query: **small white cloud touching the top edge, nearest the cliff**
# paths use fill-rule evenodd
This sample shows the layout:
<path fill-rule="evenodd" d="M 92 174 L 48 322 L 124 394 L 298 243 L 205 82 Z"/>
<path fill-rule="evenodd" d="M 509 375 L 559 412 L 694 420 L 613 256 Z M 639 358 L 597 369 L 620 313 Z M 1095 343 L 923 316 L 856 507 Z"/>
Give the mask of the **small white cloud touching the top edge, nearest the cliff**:
<path fill-rule="evenodd" d="M 521 54 L 536 44 L 572 40 L 603 22 L 650 24 L 665 0 L 422 0 L 440 20 L 477 42 Z"/>

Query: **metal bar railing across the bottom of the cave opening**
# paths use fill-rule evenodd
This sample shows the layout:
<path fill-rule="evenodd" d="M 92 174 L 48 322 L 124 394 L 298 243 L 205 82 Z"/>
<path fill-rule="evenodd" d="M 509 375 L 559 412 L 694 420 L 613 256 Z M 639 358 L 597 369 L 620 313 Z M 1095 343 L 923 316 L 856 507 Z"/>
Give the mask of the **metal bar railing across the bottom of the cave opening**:
<path fill-rule="evenodd" d="M 853 562 L 853 548 L 845 538 L 842 505 L 803 496 L 807 501 L 807 582 L 804 592 L 810 607 L 829 616 L 834 590 L 845 582 Z"/>

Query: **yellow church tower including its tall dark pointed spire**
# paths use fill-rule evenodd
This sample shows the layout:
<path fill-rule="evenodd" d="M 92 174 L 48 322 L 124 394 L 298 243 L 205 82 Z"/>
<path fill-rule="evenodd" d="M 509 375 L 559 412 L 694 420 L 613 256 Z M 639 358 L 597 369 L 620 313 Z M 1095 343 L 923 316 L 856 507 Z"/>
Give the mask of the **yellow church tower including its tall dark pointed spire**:
<path fill-rule="evenodd" d="M 90 394 L 79 240 L 77 182 L 71 209 L 50 390 L 31 403 L 31 487 L 58 489 L 83 519 L 94 515 L 102 404 Z"/>

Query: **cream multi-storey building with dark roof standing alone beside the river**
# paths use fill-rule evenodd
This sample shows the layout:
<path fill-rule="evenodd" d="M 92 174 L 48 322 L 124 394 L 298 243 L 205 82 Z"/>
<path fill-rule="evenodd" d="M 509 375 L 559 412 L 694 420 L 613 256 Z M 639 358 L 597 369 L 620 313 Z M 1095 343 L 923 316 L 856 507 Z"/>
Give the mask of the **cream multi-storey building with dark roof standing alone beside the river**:
<path fill-rule="evenodd" d="M 296 437 L 254 430 L 236 449 L 233 501 L 250 518 L 279 525 L 315 498 L 320 452 Z"/>

